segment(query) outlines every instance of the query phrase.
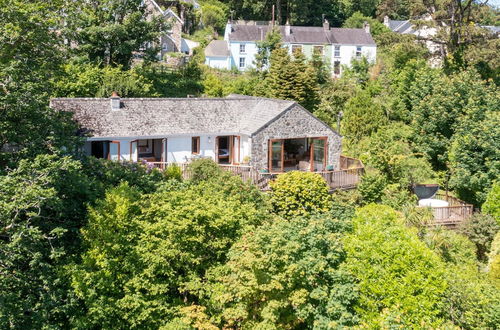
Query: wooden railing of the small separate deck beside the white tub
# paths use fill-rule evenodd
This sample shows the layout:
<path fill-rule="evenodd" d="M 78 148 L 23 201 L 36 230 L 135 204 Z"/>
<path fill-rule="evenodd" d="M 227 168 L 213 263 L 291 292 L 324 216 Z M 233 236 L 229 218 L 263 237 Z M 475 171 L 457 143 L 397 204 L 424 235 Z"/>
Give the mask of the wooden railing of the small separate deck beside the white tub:
<path fill-rule="evenodd" d="M 432 207 L 433 225 L 455 228 L 471 217 L 474 212 L 473 205 L 450 196 L 447 192 L 439 191 L 434 198 L 448 202 L 448 206 Z"/>

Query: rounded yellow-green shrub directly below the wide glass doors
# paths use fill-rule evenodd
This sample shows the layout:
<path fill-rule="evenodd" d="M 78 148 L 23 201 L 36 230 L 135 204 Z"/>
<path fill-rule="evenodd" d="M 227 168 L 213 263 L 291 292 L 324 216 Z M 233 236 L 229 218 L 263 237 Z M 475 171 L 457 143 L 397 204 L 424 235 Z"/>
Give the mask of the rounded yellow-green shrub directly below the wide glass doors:
<path fill-rule="evenodd" d="M 326 212 L 331 196 L 325 180 L 316 173 L 288 172 L 271 182 L 271 205 L 283 216 Z"/>

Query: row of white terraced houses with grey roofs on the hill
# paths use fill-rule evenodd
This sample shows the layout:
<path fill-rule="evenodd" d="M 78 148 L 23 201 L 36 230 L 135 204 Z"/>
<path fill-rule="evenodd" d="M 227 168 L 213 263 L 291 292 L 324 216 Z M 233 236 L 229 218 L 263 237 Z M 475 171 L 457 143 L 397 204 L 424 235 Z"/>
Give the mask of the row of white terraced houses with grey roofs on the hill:
<path fill-rule="evenodd" d="M 339 76 L 342 66 L 350 66 L 353 59 L 366 57 L 375 62 L 377 45 L 370 34 L 370 26 L 362 29 L 331 28 L 328 21 L 322 27 L 291 26 L 277 27 L 284 47 L 290 54 L 300 50 L 306 58 L 321 56 L 331 66 L 332 74 Z M 269 23 L 229 22 L 224 40 L 212 41 L 205 50 L 205 64 L 216 69 L 245 71 L 254 67 L 257 42 L 264 40 L 272 29 Z"/>

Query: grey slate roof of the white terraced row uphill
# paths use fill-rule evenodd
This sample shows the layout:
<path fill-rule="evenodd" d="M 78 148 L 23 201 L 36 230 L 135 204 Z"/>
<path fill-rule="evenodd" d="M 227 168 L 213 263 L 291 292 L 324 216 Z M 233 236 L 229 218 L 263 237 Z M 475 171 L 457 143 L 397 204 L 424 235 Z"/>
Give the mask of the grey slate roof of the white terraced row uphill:
<path fill-rule="evenodd" d="M 229 40 L 262 40 L 270 29 L 270 25 L 232 24 Z M 279 26 L 279 29 L 283 41 L 286 43 L 375 45 L 370 33 L 366 33 L 364 29 L 291 26 L 289 35 L 286 35 L 285 26 Z"/>

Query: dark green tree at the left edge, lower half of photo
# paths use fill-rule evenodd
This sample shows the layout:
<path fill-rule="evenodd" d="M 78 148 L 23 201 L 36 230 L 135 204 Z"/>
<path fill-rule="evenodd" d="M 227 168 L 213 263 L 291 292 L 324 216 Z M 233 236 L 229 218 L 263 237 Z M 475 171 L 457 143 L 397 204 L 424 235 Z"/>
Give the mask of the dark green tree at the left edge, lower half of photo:
<path fill-rule="evenodd" d="M 1 328 L 69 326 L 79 306 L 63 267 L 79 251 L 77 232 L 95 197 L 68 157 L 22 160 L 0 176 Z"/>

